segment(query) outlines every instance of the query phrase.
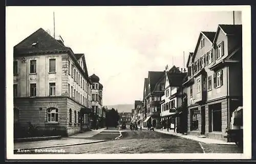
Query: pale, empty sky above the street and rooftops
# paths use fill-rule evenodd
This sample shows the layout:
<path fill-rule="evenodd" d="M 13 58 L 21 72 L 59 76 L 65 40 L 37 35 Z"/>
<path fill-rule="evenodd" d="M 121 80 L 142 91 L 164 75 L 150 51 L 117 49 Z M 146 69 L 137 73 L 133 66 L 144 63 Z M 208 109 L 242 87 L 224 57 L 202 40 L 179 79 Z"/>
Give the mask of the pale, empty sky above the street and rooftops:
<path fill-rule="evenodd" d="M 42 28 L 84 53 L 89 75 L 103 85 L 103 105 L 142 100 L 148 71 L 183 68 L 201 31 L 218 24 L 242 24 L 239 7 L 111 6 L 7 7 L 6 53 Z M 183 56 L 184 53 L 184 56 Z M 12 62 L 11 62 L 12 63 Z M 11 66 L 8 66 L 12 69 Z M 8 68 L 7 68 L 8 69 Z"/>

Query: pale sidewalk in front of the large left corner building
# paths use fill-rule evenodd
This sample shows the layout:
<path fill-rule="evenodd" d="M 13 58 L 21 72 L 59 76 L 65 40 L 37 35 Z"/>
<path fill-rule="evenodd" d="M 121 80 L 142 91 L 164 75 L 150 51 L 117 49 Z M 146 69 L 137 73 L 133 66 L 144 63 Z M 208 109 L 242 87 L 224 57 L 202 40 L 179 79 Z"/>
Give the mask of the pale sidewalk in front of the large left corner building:
<path fill-rule="evenodd" d="M 61 147 L 61 146 L 71 146 L 71 145 L 82 145 L 91 144 L 97 142 L 104 142 L 105 140 L 92 140 L 94 135 L 100 133 L 105 128 L 98 130 L 86 131 L 83 133 L 78 133 L 65 138 L 48 140 L 48 141 L 33 141 L 33 142 L 18 142 L 14 143 L 14 149 L 39 149 L 39 148 L 51 148 L 51 147 Z"/>

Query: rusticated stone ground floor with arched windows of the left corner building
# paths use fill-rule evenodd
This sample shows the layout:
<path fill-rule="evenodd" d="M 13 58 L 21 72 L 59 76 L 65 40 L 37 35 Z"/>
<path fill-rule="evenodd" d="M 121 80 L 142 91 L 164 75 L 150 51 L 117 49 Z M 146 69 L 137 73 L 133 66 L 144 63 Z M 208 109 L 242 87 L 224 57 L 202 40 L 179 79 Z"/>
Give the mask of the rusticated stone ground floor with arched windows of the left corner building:
<path fill-rule="evenodd" d="M 91 110 L 69 97 L 15 98 L 13 112 L 17 137 L 73 135 L 91 128 Z"/>

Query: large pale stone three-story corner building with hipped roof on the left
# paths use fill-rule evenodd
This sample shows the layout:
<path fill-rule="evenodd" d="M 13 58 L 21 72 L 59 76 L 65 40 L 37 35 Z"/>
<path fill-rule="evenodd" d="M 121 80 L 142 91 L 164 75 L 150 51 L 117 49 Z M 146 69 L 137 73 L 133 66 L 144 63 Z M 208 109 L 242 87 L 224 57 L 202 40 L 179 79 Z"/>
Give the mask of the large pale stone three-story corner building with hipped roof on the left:
<path fill-rule="evenodd" d="M 83 53 L 38 29 L 13 48 L 14 121 L 19 127 L 89 127 L 91 81 Z"/>

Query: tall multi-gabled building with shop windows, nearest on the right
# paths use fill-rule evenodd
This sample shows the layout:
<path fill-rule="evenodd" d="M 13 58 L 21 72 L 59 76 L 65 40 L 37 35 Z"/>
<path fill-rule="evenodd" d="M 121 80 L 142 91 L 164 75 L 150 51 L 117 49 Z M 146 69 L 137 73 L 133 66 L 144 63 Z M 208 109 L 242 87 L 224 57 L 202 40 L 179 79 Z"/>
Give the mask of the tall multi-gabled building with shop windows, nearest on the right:
<path fill-rule="evenodd" d="M 242 25 L 201 32 L 187 65 L 188 132 L 227 141 L 231 113 L 243 104 Z"/>

